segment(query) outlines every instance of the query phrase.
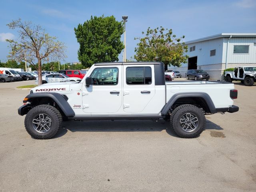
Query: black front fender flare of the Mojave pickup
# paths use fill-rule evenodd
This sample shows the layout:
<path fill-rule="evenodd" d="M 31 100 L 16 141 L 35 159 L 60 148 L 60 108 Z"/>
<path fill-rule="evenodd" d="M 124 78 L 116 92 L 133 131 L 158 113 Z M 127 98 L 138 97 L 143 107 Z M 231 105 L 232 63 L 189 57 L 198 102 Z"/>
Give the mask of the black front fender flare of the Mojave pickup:
<path fill-rule="evenodd" d="M 44 93 L 31 93 L 29 95 L 26 96 L 26 98 L 28 98 L 27 100 L 24 100 L 23 102 L 30 102 L 33 98 L 51 98 L 52 100 L 54 100 L 56 102 L 56 104 L 60 107 L 60 109 L 63 111 L 63 113 L 67 116 L 67 117 L 71 117 L 71 116 L 75 116 L 75 112 L 74 110 L 71 108 L 70 104 L 68 103 L 68 97 L 66 95 L 62 95 L 56 92 L 44 92 Z M 28 108 L 29 105 L 24 105 L 21 106 L 18 109 L 18 114 L 20 115 L 24 115 L 26 114 L 27 110 L 26 108 Z"/>

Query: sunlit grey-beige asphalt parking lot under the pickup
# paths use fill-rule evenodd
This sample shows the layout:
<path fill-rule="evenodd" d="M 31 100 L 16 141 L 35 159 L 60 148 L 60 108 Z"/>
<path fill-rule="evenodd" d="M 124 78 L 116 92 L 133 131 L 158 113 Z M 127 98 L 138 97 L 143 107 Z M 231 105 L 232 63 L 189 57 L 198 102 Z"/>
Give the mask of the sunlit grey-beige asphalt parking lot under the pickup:
<path fill-rule="evenodd" d="M 29 90 L 14 88 L 26 84 L 0 83 L 0 191 L 256 191 L 256 84 L 235 83 L 239 112 L 206 116 L 198 138 L 116 120 L 64 122 L 50 140 L 18 115 Z"/>

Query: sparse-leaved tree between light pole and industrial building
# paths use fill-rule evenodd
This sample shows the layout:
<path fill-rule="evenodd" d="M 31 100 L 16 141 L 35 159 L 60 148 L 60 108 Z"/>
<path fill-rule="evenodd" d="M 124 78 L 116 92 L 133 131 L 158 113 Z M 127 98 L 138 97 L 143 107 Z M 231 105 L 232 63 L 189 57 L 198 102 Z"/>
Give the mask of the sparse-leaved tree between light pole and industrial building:
<path fill-rule="evenodd" d="M 188 47 L 182 41 L 184 38 L 185 36 L 176 38 L 172 29 L 164 29 L 162 26 L 155 29 L 149 27 L 144 38 L 134 38 L 139 40 L 134 58 L 137 61 L 161 61 L 165 70 L 171 65 L 179 67 L 188 59 L 188 56 L 184 55 L 184 52 L 188 52 Z"/>

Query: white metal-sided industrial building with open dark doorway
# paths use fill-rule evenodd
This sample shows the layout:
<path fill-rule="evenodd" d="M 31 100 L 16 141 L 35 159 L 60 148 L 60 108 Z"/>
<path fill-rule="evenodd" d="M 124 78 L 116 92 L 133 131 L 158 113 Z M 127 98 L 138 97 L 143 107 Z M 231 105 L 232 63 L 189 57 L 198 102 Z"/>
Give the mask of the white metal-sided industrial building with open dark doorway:
<path fill-rule="evenodd" d="M 181 67 L 170 66 L 185 77 L 188 69 L 202 69 L 212 80 L 222 80 L 226 68 L 256 66 L 256 33 L 222 33 L 185 43 L 189 56 Z"/>

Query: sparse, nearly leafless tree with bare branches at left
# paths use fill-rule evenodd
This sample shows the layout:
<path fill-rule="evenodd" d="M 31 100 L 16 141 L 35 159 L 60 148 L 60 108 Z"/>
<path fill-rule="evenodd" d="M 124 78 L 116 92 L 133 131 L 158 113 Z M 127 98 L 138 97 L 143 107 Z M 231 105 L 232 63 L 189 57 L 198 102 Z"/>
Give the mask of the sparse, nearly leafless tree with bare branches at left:
<path fill-rule="evenodd" d="M 64 58 L 66 46 L 56 40 L 56 37 L 49 36 L 39 25 L 32 22 L 23 22 L 21 19 L 7 24 L 10 29 L 17 29 L 19 38 L 10 42 L 10 55 L 12 60 L 27 61 L 38 70 L 38 85 L 42 84 L 42 62 L 54 58 Z M 38 65 L 36 65 L 36 62 Z"/>

